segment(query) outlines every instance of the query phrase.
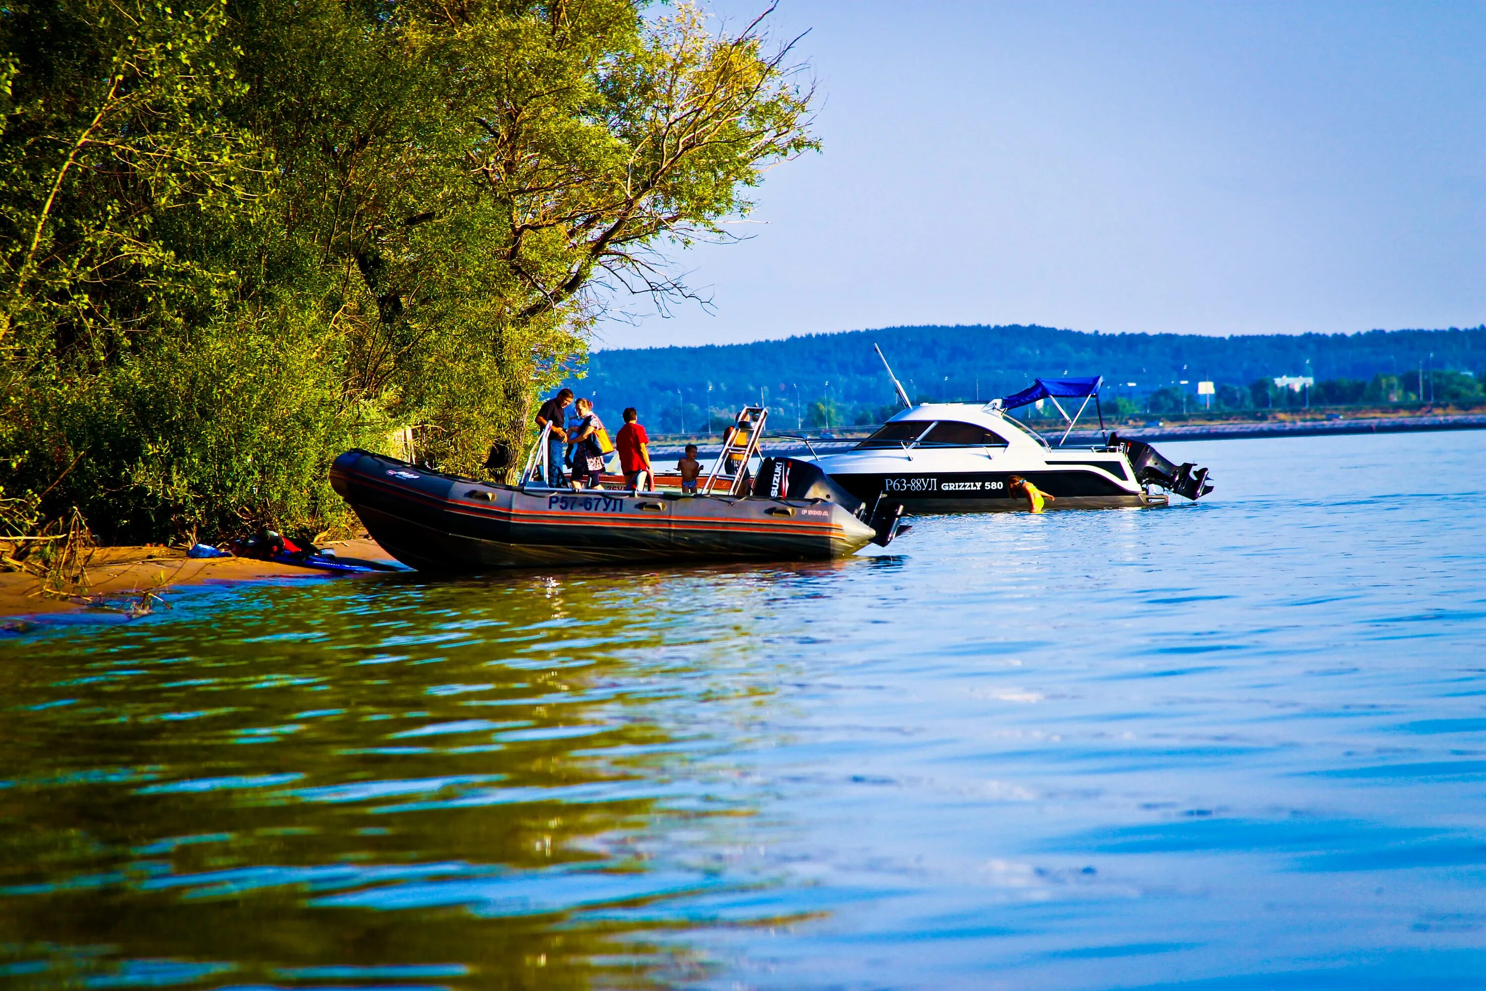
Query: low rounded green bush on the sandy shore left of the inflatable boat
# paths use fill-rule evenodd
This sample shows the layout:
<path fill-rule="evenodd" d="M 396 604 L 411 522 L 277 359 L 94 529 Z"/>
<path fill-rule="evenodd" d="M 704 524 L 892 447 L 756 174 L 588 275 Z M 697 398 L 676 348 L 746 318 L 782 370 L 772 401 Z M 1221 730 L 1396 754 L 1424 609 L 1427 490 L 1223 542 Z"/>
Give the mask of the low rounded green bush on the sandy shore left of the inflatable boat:
<path fill-rule="evenodd" d="M 49 517 L 77 507 L 106 541 L 343 527 L 325 467 L 389 423 L 343 403 L 331 343 L 285 315 L 163 337 L 100 374 L 28 382 L 0 447 L 21 486 L 51 487 Z"/>

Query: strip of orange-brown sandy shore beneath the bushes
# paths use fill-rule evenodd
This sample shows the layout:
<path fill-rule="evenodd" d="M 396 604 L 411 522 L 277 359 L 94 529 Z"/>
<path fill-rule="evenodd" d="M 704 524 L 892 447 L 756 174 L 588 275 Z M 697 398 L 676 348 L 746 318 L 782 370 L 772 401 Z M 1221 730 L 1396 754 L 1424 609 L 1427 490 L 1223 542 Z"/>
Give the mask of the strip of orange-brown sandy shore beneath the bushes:
<path fill-rule="evenodd" d="M 327 544 L 340 557 L 391 560 L 376 541 Z M 294 568 L 247 557 L 190 559 L 169 547 L 100 547 L 88 565 L 88 599 L 55 599 L 40 593 L 39 578 L 0 572 L 0 620 L 106 608 L 138 609 L 146 593 L 166 593 L 186 585 L 265 581 L 269 578 L 342 578 L 337 572 Z"/>

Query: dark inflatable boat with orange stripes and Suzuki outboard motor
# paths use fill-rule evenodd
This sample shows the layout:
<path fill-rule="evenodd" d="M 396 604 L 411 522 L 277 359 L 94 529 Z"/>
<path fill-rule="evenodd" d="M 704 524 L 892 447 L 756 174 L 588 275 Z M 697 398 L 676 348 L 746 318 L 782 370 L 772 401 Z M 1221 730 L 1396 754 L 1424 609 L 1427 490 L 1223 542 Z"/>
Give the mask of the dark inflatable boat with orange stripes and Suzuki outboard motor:
<path fill-rule="evenodd" d="M 571 566 L 658 560 L 811 560 L 846 557 L 906 530 L 896 501 L 863 502 L 808 462 L 765 458 L 744 469 L 762 431 L 739 434 L 701 495 L 632 489 L 553 489 L 538 440 L 517 484 L 476 481 L 395 458 L 348 450 L 330 483 L 392 557 L 419 571 Z M 742 420 L 742 417 L 740 417 Z M 746 438 L 746 440 L 744 440 Z M 744 455 L 739 459 L 739 455 Z"/>

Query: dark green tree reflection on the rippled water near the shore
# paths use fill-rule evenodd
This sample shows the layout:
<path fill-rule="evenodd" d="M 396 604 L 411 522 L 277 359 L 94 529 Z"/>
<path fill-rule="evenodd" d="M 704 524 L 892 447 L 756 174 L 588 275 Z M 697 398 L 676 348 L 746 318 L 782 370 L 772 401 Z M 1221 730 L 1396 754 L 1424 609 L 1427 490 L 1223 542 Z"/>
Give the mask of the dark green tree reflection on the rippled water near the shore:
<path fill-rule="evenodd" d="M 649 860 L 688 835 L 727 848 L 756 814 L 725 752 L 788 676 L 758 663 L 758 617 L 831 571 L 391 575 L 28 642 L 0 667 L 4 698 L 24 703 L 0 722 L 0 973 L 700 973 L 657 933 L 713 924 L 698 894 L 768 878 Z M 698 777 L 698 762 L 715 767 Z"/>

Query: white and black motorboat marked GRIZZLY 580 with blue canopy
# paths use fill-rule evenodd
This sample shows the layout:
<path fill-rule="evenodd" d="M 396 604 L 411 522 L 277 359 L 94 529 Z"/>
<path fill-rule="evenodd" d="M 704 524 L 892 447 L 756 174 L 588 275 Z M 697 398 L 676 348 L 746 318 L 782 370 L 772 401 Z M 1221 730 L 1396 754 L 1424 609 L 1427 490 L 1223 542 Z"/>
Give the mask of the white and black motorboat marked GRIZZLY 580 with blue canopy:
<path fill-rule="evenodd" d="M 847 450 L 816 450 L 814 462 L 868 505 L 886 496 L 902 502 L 906 513 L 1024 508 L 1025 499 L 1010 489 L 1013 475 L 1052 495 L 1049 508 L 1058 510 L 1167 505 L 1168 493 L 1198 499 L 1213 490 L 1207 468 L 1172 464 L 1138 440 L 1109 434 L 1104 444 L 1064 447 L 1061 441 L 1089 400 L 1098 410 L 1101 383 L 1101 376 L 1037 379 L 1030 388 L 984 406 L 914 406 L 893 377 L 906 409 Z M 1082 398 L 1083 404 L 1068 416 L 1060 398 Z M 1051 401 L 1067 422 L 1057 444 L 1009 415 L 1039 400 Z M 1100 426 L 1103 434 L 1103 412 Z"/>

